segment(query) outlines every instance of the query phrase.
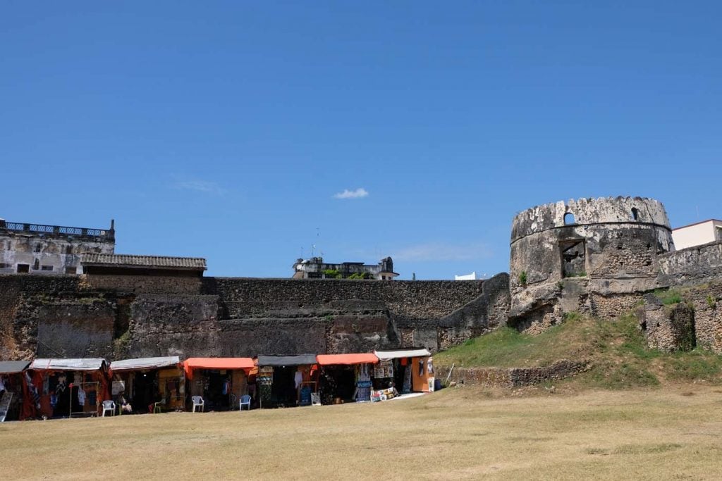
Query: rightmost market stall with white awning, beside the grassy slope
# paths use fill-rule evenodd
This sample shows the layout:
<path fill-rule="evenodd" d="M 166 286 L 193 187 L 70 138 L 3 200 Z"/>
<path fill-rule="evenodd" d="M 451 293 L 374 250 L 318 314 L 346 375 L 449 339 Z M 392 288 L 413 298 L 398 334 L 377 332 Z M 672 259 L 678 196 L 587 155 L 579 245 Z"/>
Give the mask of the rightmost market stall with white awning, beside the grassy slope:
<path fill-rule="evenodd" d="M 399 394 L 429 392 L 434 389 L 431 353 L 425 348 L 375 350 L 378 356 L 374 389 Z M 431 386 L 429 386 L 431 384 Z"/>

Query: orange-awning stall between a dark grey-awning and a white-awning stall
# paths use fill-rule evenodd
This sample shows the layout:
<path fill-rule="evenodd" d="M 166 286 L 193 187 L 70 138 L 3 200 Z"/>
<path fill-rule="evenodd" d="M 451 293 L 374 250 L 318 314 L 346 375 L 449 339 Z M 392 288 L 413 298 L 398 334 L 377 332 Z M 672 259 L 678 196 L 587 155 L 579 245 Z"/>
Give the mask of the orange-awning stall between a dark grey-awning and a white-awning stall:
<path fill-rule="evenodd" d="M 365 354 L 319 354 L 321 404 L 371 400 L 371 374 L 378 357 Z"/>

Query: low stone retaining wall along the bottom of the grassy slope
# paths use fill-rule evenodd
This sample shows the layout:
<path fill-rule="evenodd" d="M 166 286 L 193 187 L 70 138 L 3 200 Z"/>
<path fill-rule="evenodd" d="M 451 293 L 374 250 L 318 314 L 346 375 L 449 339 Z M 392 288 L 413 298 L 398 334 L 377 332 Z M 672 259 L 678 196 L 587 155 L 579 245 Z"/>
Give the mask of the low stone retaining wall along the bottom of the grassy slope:
<path fill-rule="evenodd" d="M 435 366 L 436 379 L 447 379 L 450 366 Z M 562 359 L 551 366 L 533 368 L 457 368 L 450 381 L 484 387 L 522 387 L 575 376 L 588 369 L 586 361 Z"/>

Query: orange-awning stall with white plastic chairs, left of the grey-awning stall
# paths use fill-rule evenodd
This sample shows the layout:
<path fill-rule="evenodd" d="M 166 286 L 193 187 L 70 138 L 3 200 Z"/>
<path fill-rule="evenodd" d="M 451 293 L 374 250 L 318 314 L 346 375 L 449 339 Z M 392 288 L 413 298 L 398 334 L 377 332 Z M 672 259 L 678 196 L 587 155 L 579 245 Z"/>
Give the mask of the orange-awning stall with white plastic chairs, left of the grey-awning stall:
<path fill-rule="evenodd" d="M 183 362 L 188 379 L 186 402 L 203 398 L 205 411 L 238 409 L 238 401 L 248 394 L 251 358 L 188 358 Z"/>

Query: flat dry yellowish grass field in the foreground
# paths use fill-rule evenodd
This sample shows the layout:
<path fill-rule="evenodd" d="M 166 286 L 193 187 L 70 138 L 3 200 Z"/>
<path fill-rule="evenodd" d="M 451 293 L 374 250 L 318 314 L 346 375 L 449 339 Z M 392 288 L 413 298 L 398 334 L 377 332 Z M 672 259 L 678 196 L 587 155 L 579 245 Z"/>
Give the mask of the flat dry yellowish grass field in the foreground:
<path fill-rule="evenodd" d="M 698 385 L 0 425 L 15 479 L 719 479 L 722 389 Z"/>

